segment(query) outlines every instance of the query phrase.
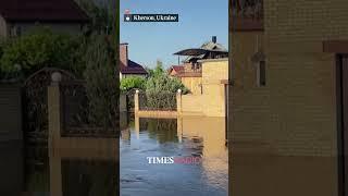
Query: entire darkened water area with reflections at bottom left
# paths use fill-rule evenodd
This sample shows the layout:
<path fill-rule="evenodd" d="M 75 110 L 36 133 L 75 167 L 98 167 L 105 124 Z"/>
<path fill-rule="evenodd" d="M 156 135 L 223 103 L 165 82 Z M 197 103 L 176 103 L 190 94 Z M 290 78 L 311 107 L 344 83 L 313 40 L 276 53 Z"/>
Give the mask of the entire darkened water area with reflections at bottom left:
<path fill-rule="evenodd" d="M 119 139 L 55 139 L 40 146 L 0 143 L 2 196 L 116 196 Z"/>

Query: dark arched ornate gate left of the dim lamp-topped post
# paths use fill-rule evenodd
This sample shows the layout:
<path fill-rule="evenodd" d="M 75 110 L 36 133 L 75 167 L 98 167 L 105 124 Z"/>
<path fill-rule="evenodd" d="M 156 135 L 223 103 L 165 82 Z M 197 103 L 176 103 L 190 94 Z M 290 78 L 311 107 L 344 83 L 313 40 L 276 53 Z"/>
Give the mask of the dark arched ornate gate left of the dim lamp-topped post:
<path fill-rule="evenodd" d="M 51 74 L 59 72 L 62 81 L 72 81 L 71 73 L 45 68 L 29 76 L 22 88 L 23 131 L 26 142 L 26 156 L 30 162 L 42 162 L 48 151 L 48 105 L 47 88 L 51 84 Z"/>

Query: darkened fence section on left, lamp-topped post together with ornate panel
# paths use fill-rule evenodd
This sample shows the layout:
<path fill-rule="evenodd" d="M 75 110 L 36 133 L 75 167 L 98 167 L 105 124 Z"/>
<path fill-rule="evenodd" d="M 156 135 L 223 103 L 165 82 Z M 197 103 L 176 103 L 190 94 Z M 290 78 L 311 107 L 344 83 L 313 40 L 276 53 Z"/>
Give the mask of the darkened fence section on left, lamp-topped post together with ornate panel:
<path fill-rule="evenodd" d="M 96 108 L 96 105 L 91 105 L 91 101 L 96 100 L 91 99 L 94 97 L 88 96 L 86 83 L 83 81 L 53 82 L 48 90 L 50 132 L 58 134 L 58 138 L 116 138 L 119 113 L 105 111 L 109 103 L 102 100 L 97 101 L 100 108 Z"/>

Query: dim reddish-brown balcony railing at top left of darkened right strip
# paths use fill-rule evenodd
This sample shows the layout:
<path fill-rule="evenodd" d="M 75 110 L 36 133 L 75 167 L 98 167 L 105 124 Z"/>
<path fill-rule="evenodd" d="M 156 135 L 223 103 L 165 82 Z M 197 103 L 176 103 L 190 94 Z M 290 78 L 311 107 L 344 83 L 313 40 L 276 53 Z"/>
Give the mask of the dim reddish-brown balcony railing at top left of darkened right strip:
<path fill-rule="evenodd" d="M 263 29 L 263 0 L 231 0 L 234 30 Z"/>

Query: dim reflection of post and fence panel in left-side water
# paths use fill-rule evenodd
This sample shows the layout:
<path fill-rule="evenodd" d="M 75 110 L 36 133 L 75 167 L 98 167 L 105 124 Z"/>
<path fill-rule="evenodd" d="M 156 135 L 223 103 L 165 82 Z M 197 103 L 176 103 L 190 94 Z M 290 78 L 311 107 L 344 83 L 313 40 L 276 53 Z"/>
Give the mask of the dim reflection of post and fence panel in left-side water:
<path fill-rule="evenodd" d="M 49 149 L 51 195 L 117 195 L 117 148 L 115 138 L 61 138 Z"/>

